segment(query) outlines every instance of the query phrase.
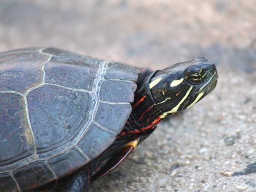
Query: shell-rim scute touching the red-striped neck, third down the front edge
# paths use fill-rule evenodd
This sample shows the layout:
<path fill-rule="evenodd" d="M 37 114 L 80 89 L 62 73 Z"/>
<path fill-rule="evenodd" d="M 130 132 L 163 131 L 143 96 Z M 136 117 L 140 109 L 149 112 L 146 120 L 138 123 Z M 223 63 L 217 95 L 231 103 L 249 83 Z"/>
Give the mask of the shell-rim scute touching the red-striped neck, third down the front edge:
<path fill-rule="evenodd" d="M 122 130 L 122 127 L 124 127 L 127 118 L 129 118 L 131 111 L 132 109 L 130 103 L 99 103 L 98 113 L 96 114 L 94 120 L 109 130 L 119 134 Z"/>

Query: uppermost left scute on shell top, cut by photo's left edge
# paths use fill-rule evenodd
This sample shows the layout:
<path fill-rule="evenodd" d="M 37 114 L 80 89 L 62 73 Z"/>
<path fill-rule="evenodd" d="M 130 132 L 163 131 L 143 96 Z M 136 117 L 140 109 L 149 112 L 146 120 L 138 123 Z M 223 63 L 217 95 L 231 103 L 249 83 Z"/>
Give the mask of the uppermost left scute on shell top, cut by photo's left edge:
<path fill-rule="evenodd" d="M 0 56 L 0 91 L 25 93 L 42 83 L 42 63 L 48 55 L 39 52 L 10 53 Z"/>

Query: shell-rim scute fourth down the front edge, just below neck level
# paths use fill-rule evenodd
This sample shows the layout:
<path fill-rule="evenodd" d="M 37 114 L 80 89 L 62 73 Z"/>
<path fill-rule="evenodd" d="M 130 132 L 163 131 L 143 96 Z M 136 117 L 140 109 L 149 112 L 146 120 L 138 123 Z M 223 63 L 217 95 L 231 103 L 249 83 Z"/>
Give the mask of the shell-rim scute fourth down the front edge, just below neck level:
<path fill-rule="evenodd" d="M 92 123 L 86 135 L 78 143 L 78 146 L 90 159 L 93 159 L 102 153 L 106 146 L 111 145 L 115 139 L 116 134 Z"/>

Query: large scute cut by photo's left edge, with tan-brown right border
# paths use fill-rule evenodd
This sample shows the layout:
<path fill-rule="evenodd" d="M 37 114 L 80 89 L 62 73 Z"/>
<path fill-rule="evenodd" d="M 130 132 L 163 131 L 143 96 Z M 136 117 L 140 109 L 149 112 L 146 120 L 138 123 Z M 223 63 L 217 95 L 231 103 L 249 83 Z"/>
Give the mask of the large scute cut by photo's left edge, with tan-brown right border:
<path fill-rule="evenodd" d="M 1 166 L 34 153 L 27 122 L 24 98 L 19 94 L 0 93 L 0 171 Z"/>

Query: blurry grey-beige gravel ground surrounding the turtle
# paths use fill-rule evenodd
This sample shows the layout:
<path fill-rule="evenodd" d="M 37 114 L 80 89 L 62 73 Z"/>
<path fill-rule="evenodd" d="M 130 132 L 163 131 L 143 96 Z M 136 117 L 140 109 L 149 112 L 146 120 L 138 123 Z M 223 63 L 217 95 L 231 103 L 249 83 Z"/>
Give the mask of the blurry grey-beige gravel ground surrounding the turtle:
<path fill-rule="evenodd" d="M 54 46 L 163 69 L 206 56 L 216 90 L 90 191 L 256 191 L 255 1 L 1 0 L 0 51 Z"/>

